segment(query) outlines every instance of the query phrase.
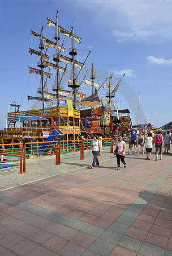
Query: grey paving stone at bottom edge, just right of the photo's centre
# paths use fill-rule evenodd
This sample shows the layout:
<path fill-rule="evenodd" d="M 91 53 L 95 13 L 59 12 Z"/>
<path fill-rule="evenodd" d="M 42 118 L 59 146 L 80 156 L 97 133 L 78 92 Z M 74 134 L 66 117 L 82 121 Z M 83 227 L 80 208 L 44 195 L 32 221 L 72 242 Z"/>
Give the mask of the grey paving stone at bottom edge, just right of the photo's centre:
<path fill-rule="evenodd" d="M 91 250 L 94 253 L 106 256 L 106 255 L 109 255 L 113 247 L 114 245 L 112 243 L 98 238 L 96 241 L 92 243 L 91 246 L 88 247 L 88 250 Z"/>

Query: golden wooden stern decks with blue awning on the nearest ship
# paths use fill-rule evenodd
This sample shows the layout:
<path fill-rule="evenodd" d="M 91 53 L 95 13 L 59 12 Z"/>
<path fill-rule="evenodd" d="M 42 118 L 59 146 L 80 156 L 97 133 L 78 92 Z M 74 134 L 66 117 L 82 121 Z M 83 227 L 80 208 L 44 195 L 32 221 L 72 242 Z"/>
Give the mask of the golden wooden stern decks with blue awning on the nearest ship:
<path fill-rule="evenodd" d="M 7 128 L 0 130 L 1 144 L 41 142 L 54 129 L 65 134 L 62 137 L 64 141 L 79 139 L 80 112 L 75 109 L 72 117 L 68 115 L 68 108 L 65 107 L 10 112 L 7 122 Z"/>

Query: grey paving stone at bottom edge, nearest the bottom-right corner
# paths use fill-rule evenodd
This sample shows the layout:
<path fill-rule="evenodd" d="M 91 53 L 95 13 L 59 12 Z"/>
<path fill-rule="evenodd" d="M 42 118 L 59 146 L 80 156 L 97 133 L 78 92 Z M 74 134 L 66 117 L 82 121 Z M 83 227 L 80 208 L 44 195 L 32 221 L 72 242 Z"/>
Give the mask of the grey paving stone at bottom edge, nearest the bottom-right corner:
<path fill-rule="evenodd" d="M 150 256 L 162 256 L 165 253 L 165 249 L 151 245 L 150 243 L 143 242 L 139 250 L 139 254 Z M 168 254 L 167 254 L 168 255 Z M 171 255 L 171 254 L 170 254 Z"/>

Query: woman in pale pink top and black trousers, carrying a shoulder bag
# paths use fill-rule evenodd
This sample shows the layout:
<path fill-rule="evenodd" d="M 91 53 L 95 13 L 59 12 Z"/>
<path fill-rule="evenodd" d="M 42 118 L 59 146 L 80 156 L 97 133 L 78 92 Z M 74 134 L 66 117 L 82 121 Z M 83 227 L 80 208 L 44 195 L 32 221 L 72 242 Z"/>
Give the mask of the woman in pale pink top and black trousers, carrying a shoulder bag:
<path fill-rule="evenodd" d="M 125 155 L 126 155 L 126 142 L 123 141 L 122 135 L 119 135 L 119 142 L 117 144 L 117 165 L 118 168 L 116 170 L 120 169 L 120 159 L 121 162 L 124 164 L 124 168 L 126 168 L 126 162 L 124 161 Z"/>

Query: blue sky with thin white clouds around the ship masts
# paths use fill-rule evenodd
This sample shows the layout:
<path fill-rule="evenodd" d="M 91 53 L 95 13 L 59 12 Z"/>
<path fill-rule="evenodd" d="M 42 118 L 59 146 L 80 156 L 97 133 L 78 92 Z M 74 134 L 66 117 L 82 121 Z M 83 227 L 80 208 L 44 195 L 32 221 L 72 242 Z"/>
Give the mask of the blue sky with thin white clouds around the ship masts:
<path fill-rule="evenodd" d="M 46 27 L 59 9 L 62 26 L 82 38 L 81 47 L 92 51 L 97 69 L 114 77 L 126 73 L 124 84 L 131 95 L 116 93 L 119 107 L 130 109 L 140 92 L 142 119 L 160 127 L 171 121 L 172 2 L 170 0 L 0 0 L 1 21 L 1 101 L 0 127 L 6 126 L 8 103 L 21 103 L 27 109 L 28 48 L 30 30 Z M 37 86 L 38 87 L 38 86 Z M 133 98 L 132 98 L 133 96 Z M 130 99 L 129 99 L 130 98 Z M 130 105 L 127 105 L 130 102 Z M 131 110 L 131 109 L 130 109 Z M 133 123 L 136 123 L 134 112 Z"/>

